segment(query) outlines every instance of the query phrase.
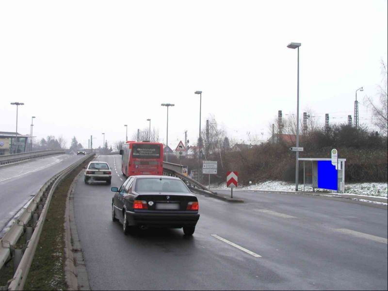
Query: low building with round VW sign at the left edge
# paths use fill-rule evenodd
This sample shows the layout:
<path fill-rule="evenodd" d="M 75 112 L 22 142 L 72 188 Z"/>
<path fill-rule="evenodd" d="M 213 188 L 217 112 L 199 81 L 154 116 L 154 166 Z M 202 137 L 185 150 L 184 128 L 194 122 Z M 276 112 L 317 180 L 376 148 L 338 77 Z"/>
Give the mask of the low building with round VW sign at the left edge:
<path fill-rule="evenodd" d="M 29 149 L 30 135 L 16 132 L 0 131 L 0 156 L 24 153 Z"/>

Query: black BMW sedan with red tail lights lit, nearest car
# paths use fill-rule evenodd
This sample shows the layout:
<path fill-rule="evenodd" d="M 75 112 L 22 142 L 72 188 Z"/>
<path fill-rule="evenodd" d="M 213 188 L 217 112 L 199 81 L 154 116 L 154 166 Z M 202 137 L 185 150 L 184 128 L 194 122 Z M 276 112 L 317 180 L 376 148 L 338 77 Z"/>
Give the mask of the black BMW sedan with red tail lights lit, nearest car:
<path fill-rule="evenodd" d="M 182 228 L 193 235 L 199 219 L 198 199 L 179 178 L 139 175 L 112 187 L 112 220 L 128 234 L 136 227 Z"/>

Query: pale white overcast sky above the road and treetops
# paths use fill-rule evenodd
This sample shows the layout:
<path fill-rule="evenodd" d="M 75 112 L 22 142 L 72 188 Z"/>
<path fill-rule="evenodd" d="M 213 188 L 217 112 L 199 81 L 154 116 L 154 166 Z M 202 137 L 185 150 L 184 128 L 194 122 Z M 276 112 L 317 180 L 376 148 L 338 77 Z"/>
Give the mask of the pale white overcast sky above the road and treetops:
<path fill-rule="evenodd" d="M 0 131 L 72 136 L 87 146 L 159 129 L 169 145 L 195 141 L 213 114 L 232 138 L 268 138 L 277 116 L 331 122 L 375 96 L 387 60 L 387 0 L 365 1 L 0 1 Z M 360 102 L 360 123 L 371 114 Z M 337 118 L 333 118 L 337 117 Z M 342 118 L 342 119 L 340 119 Z M 191 144 L 193 144 L 191 142 Z"/>

